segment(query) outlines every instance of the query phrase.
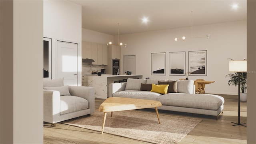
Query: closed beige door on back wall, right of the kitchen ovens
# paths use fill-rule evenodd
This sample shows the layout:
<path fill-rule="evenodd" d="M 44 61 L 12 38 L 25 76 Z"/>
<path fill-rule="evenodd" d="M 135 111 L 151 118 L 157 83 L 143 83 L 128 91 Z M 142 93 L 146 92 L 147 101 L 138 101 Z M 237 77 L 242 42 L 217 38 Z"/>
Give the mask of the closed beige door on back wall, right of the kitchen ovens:
<path fill-rule="evenodd" d="M 124 73 L 127 71 L 136 74 L 136 55 L 124 56 Z"/>

